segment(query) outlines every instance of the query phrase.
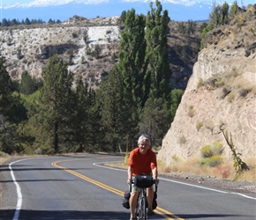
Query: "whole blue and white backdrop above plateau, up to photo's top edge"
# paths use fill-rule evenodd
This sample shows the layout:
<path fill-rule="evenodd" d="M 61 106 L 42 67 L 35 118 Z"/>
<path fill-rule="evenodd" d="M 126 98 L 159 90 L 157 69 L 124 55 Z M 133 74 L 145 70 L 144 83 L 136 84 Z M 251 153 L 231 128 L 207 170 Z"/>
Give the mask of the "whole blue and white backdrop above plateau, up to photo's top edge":
<path fill-rule="evenodd" d="M 79 15 L 85 18 L 119 16 L 122 11 L 132 8 L 140 14 L 147 14 L 150 0 L 0 0 L 2 18 L 34 18 L 48 22 L 51 19 L 62 21 Z M 153 0 L 154 2 L 154 0 Z M 160 0 L 162 9 L 169 11 L 173 20 L 205 20 L 212 10 L 213 0 Z M 216 4 L 223 1 L 215 0 Z M 234 0 L 226 1 L 229 4 Z M 256 0 L 237 0 L 237 4 L 247 6 Z"/>

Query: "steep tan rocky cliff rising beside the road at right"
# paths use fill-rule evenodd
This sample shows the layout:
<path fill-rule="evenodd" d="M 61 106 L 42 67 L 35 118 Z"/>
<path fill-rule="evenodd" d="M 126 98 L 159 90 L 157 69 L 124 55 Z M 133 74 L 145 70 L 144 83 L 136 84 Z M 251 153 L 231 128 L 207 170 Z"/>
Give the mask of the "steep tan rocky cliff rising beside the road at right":
<path fill-rule="evenodd" d="M 242 158 L 256 152 L 256 4 L 207 35 L 158 159 L 200 155 L 208 144 L 230 149 L 220 126 L 232 136 Z"/>

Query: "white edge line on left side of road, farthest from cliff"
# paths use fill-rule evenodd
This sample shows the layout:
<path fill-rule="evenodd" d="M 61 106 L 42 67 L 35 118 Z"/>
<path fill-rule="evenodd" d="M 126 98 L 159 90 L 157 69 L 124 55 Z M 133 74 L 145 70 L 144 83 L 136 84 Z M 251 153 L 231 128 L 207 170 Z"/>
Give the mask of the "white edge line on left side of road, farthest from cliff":
<path fill-rule="evenodd" d="M 59 157 L 57 157 L 59 158 Z M 23 161 L 23 160 L 29 160 L 29 159 L 35 159 L 35 158 L 25 158 L 25 159 L 19 159 L 17 161 L 14 161 L 12 162 L 11 164 L 9 164 L 9 169 L 10 169 L 10 172 L 11 172 L 11 178 L 12 178 L 12 181 L 13 183 L 15 184 L 16 186 L 16 191 L 17 191 L 17 196 L 18 196 L 18 200 L 17 200 L 17 205 L 16 205 L 16 209 L 15 209 L 15 213 L 14 213 L 14 216 L 12 218 L 12 220 L 19 220 L 19 211 L 21 209 L 21 205 L 22 205 L 22 194 L 21 194 L 21 189 L 19 187 L 19 183 L 16 181 L 16 178 L 14 176 L 14 172 L 12 171 L 11 169 L 11 165 L 15 164 L 15 163 L 18 163 L 20 161 Z M 36 159 L 42 159 L 42 158 L 36 158 Z"/>

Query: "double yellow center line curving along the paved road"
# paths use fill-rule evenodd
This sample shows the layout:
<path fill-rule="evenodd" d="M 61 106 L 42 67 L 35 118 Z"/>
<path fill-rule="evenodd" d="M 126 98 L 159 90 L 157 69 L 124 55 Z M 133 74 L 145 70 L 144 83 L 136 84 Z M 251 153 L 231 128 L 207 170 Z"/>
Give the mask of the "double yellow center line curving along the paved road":
<path fill-rule="evenodd" d="M 79 159 L 59 160 L 59 161 L 55 161 L 55 162 L 51 163 L 51 165 L 53 165 L 53 166 L 55 166 L 59 169 L 62 169 L 65 172 L 70 172 L 70 173 L 72 173 L 72 175 L 75 175 L 75 176 L 79 177 L 82 180 L 86 180 L 90 183 L 93 183 L 94 185 L 96 185 L 98 187 L 102 187 L 106 190 L 109 190 L 110 192 L 112 192 L 114 194 L 119 194 L 121 196 L 124 196 L 124 192 L 118 190 L 117 188 L 109 187 L 108 185 L 105 185 L 102 182 L 99 182 L 99 181 L 93 180 L 91 178 L 88 178 L 87 176 L 84 176 L 84 175 L 80 174 L 79 172 L 72 171 L 71 169 L 66 168 L 64 166 L 61 166 L 61 165 L 57 165 L 58 163 L 61 163 L 61 162 L 67 162 L 67 161 L 73 161 L 73 160 L 85 160 L 85 159 L 93 159 L 93 158 L 82 158 L 82 159 L 79 158 Z M 156 209 L 154 209 L 154 212 L 157 213 L 160 216 L 163 216 L 165 219 L 183 220 L 183 218 L 180 218 L 180 217 L 174 215 L 173 213 L 169 212 L 168 210 L 162 209 L 161 207 L 158 207 L 158 206 L 157 206 Z"/>

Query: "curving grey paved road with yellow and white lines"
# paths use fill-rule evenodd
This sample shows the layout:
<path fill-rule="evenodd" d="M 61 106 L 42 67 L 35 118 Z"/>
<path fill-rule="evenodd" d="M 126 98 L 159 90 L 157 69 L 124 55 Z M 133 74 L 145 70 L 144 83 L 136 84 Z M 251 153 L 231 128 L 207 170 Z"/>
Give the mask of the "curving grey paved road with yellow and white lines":
<path fill-rule="evenodd" d="M 122 159 L 83 155 L 11 161 L 1 167 L 0 219 L 129 219 L 122 206 L 126 172 L 101 166 Z M 161 178 L 152 219 L 251 220 L 255 197 Z"/>

